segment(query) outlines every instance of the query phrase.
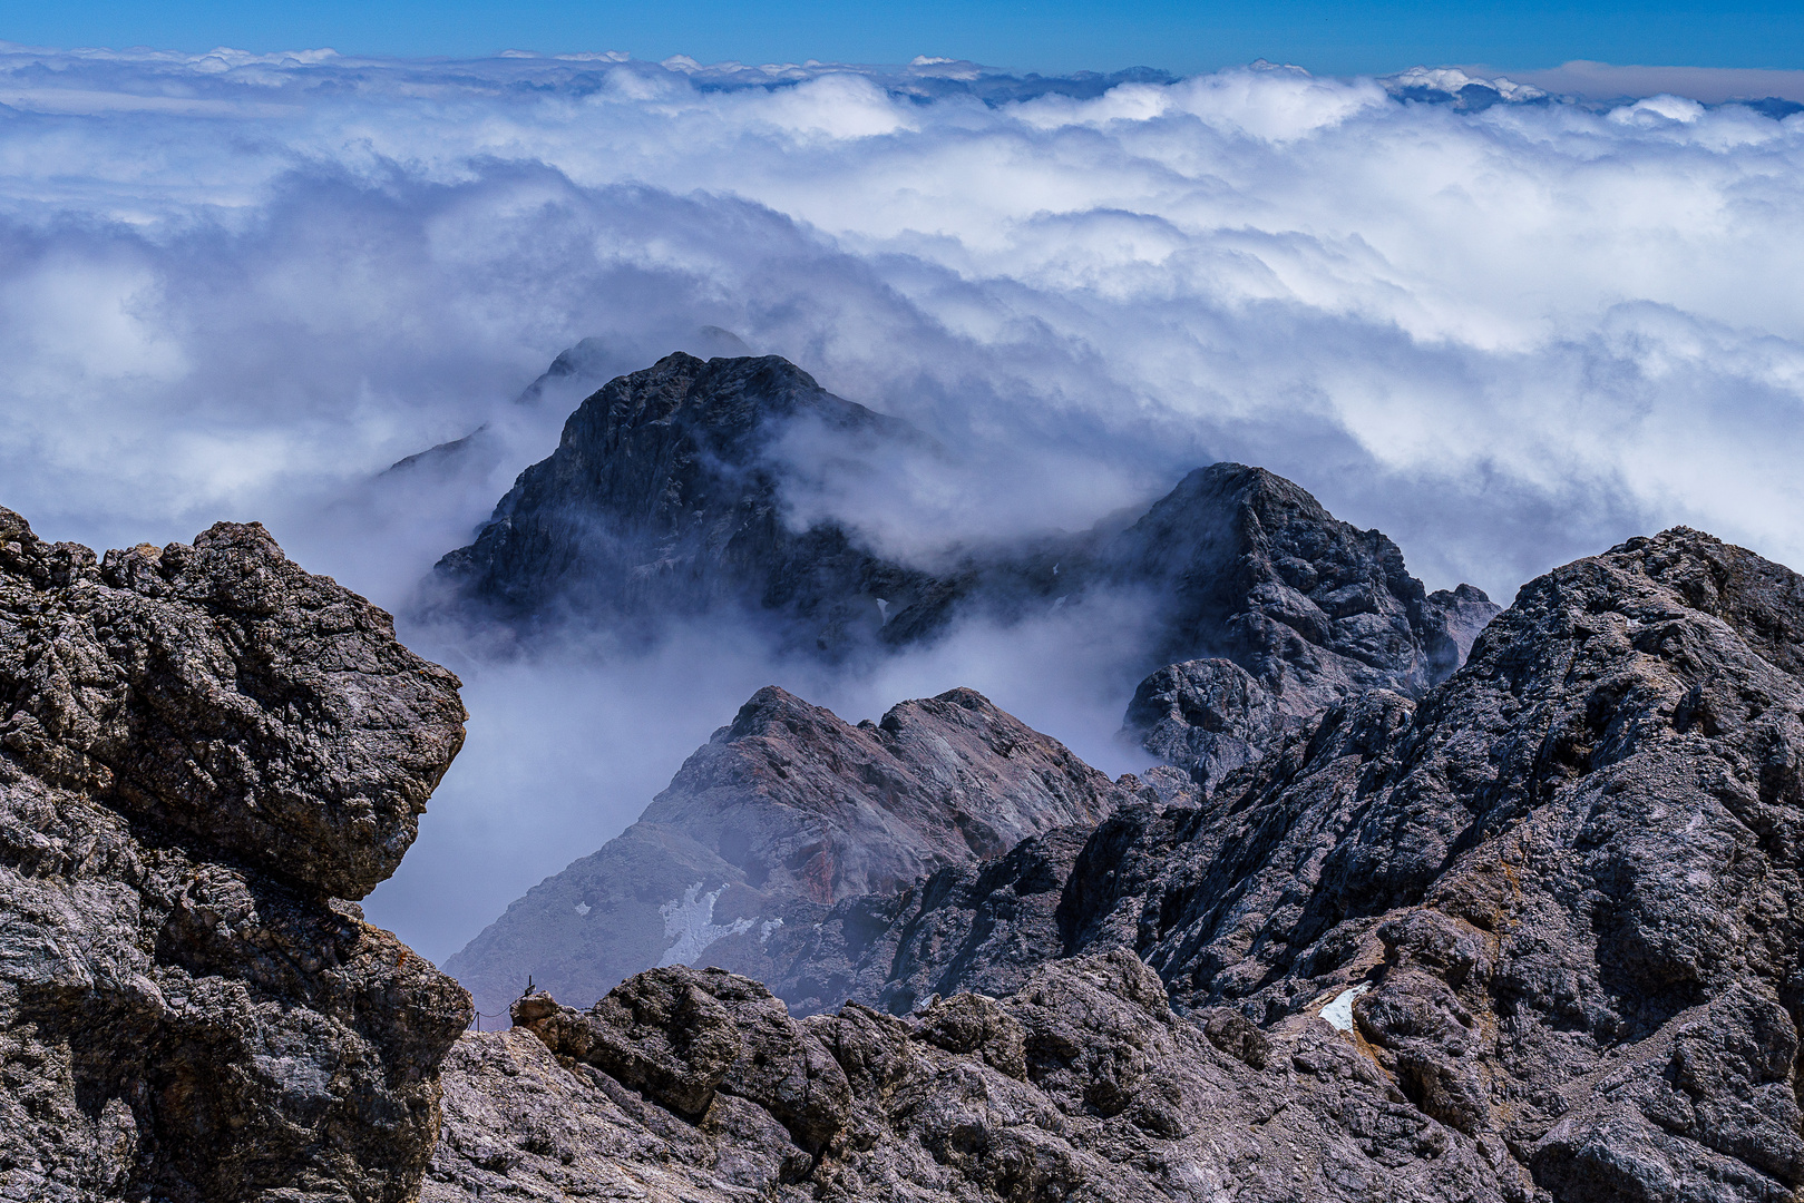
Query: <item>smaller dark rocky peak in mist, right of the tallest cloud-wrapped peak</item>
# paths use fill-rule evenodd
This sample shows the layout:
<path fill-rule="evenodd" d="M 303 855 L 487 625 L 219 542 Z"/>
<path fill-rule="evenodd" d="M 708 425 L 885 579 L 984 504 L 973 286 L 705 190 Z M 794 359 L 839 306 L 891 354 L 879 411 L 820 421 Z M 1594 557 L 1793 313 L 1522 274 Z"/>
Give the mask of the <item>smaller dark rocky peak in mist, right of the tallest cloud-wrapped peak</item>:
<path fill-rule="evenodd" d="M 1420 696 L 1497 613 L 1470 584 L 1429 595 L 1387 537 L 1238 464 L 1191 473 L 1100 556 L 1169 592 L 1171 664 L 1135 689 L 1126 727 L 1205 790 L 1346 696 Z"/>

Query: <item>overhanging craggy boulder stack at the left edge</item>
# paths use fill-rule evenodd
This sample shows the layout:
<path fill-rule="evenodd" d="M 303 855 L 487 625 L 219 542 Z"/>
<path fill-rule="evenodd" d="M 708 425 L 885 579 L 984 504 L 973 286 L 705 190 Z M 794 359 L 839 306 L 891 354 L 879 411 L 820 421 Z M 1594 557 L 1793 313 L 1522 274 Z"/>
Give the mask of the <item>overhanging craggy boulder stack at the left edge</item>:
<path fill-rule="evenodd" d="M 0 1196 L 411 1198 L 455 981 L 363 923 L 456 678 L 262 527 L 0 510 Z"/>

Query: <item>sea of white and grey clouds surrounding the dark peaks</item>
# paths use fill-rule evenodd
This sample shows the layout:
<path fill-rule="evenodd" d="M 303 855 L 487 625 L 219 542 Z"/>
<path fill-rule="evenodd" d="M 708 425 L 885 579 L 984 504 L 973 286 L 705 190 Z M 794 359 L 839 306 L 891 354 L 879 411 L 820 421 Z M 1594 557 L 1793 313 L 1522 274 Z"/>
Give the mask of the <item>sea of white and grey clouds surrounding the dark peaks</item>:
<path fill-rule="evenodd" d="M 568 404 L 514 399 L 557 352 L 718 326 L 947 449 L 797 498 L 897 554 L 1241 460 L 1431 588 L 1674 523 L 1804 565 L 1804 115 L 1461 79 L 0 45 L 0 505 L 105 546 L 262 519 L 404 611 L 556 445 Z M 375 482 L 482 426 L 480 469 Z M 972 684 L 1131 759 L 1108 631 L 853 682 L 720 631 L 606 671 L 402 633 L 473 711 L 372 898 L 433 958 L 767 680 L 848 718 Z"/>

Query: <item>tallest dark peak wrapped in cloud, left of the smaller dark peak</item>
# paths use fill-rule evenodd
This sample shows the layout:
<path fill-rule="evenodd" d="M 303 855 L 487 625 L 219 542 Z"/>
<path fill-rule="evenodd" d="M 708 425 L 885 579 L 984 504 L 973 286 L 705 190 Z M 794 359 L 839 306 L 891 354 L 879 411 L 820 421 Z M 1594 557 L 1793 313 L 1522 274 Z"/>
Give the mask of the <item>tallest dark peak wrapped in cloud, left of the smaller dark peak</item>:
<path fill-rule="evenodd" d="M 521 473 L 476 543 L 438 574 L 527 631 L 577 617 L 644 638 L 673 617 L 747 608 L 797 647 L 837 655 L 893 640 L 936 586 L 839 527 L 785 525 L 767 453 L 796 420 L 841 436 L 913 436 L 785 359 L 678 352 L 584 400 L 557 451 Z"/>

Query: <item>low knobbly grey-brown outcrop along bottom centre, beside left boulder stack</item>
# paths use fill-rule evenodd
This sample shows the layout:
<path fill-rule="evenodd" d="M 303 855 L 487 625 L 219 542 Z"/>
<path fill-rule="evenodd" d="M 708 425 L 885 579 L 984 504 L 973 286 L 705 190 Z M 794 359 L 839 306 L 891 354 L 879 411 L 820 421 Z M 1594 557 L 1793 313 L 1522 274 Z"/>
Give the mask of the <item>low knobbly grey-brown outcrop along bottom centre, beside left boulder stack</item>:
<path fill-rule="evenodd" d="M 422 1203 L 1528 1196 L 1328 1024 L 1205 1030 L 1124 950 L 904 1017 L 669 969 L 516 1021 L 447 1062 Z"/>

